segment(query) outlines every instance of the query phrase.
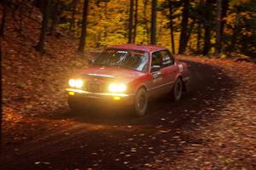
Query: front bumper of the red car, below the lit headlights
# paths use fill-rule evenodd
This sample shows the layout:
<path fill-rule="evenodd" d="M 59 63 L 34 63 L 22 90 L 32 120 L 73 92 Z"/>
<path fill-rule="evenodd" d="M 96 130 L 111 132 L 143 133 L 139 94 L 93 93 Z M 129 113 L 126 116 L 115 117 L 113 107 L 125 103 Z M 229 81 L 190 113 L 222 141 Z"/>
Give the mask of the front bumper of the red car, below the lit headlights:
<path fill-rule="evenodd" d="M 99 105 L 132 105 L 135 94 L 92 93 L 80 89 L 67 88 L 68 99 L 79 103 Z"/>

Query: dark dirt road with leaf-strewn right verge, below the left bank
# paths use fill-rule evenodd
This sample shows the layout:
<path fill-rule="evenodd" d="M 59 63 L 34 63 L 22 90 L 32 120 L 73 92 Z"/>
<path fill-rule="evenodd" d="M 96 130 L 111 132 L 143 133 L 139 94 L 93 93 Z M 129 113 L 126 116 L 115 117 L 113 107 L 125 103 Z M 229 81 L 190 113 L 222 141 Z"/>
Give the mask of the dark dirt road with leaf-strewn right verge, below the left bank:
<path fill-rule="evenodd" d="M 255 65 L 179 59 L 191 91 L 151 101 L 146 116 L 66 105 L 7 121 L 0 169 L 256 169 Z"/>

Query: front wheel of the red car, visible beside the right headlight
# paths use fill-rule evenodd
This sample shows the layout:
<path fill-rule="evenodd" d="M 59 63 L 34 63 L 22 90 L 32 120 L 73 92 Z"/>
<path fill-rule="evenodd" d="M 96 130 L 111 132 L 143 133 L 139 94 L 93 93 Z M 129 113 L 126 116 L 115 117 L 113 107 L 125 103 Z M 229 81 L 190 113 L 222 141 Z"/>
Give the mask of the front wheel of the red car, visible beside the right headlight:
<path fill-rule="evenodd" d="M 140 88 L 137 91 L 134 101 L 135 116 L 144 116 L 148 109 L 148 94 L 145 88 Z"/>

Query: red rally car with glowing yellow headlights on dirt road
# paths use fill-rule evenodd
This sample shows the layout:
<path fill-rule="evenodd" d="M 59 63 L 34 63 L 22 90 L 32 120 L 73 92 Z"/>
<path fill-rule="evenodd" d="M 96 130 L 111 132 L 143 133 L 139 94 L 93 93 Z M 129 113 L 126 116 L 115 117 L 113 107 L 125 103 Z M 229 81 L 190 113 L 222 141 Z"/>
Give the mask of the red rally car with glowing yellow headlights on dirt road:
<path fill-rule="evenodd" d="M 111 46 L 85 70 L 69 79 L 68 105 L 130 105 L 143 116 L 148 99 L 170 94 L 178 101 L 188 89 L 188 68 L 167 48 L 156 45 Z"/>

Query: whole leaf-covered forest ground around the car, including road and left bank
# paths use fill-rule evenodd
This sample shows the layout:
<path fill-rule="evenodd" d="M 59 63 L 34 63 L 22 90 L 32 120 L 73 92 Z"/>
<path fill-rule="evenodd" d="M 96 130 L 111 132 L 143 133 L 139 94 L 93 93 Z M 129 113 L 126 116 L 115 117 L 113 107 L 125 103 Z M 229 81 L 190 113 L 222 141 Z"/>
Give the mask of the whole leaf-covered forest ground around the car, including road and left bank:
<path fill-rule="evenodd" d="M 0 169 L 256 169 L 255 64 L 177 56 L 191 77 L 180 102 L 151 101 L 139 118 L 73 114 L 64 89 L 86 59 L 67 37 L 49 36 L 39 55 L 39 25 L 25 26 L 20 37 L 9 25 L 3 42 Z"/>

